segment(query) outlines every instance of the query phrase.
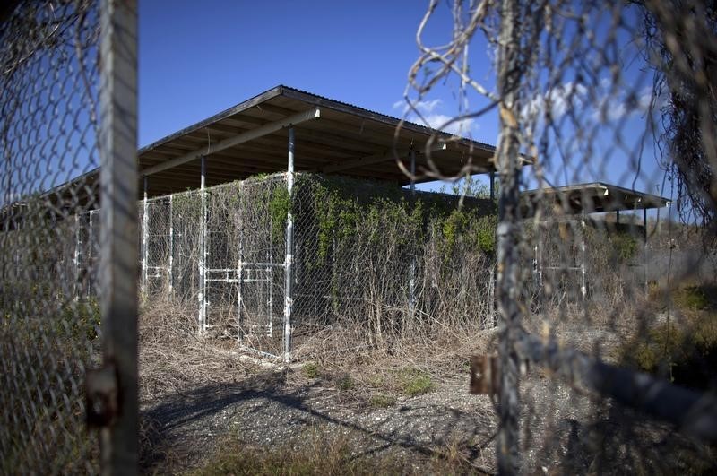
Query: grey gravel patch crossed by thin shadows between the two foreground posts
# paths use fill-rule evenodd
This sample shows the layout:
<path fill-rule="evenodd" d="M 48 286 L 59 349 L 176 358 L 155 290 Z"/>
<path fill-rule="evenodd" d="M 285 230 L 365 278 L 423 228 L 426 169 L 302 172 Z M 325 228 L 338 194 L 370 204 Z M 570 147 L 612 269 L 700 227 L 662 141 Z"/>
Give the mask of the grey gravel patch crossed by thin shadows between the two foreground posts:
<path fill-rule="evenodd" d="M 143 411 L 144 471 L 196 467 L 216 451 L 222 437 L 260 445 L 285 444 L 310 428 L 351 435 L 353 457 L 402 449 L 441 457 L 436 448 L 456 441 L 469 460 L 490 439 L 492 410 L 462 411 L 446 402 L 415 398 L 388 409 L 367 409 L 320 380 L 289 388 L 286 374 L 267 372 L 238 384 L 206 385 L 172 394 Z M 484 434 L 480 434 L 480 433 Z M 483 445 L 485 447 L 486 445 Z"/>

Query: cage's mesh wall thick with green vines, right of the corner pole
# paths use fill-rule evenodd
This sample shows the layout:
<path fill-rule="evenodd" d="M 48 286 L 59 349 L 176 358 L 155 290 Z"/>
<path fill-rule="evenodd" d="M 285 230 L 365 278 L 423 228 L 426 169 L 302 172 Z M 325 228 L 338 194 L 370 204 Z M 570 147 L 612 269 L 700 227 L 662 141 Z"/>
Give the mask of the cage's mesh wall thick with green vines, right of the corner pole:
<path fill-rule="evenodd" d="M 431 326 L 493 325 L 491 201 L 307 174 L 294 197 L 298 358 L 326 332 L 384 347 Z"/>

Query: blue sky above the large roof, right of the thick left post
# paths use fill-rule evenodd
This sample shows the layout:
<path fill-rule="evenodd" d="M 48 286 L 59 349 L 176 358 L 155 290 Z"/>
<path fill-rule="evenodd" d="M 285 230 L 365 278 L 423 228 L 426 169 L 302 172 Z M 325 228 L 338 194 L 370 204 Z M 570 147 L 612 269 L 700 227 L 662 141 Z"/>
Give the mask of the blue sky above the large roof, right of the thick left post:
<path fill-rule="evenodd" d="M 402 100 L 410 65 L 418 57 L 416 30 L 428 0 L 144 0 L 139 4 L 139 145 L 143 146 L 278 84 L 401 116 L 403 108 L 397 102 Z M 439 44 L 449 37 L 448 13 L 442 3 L 429 23 L 428 42 Z M 475 39 L 471 74 L 489 85 L 486 52 L 484 40 Z M 635 70 L 634 65 L 630 68 Z M 434 122 L 455 111 L 450 82 L 425 103 L 424 112 Z M 620 123 L 618 131 L 626 136 L 627 151 L 614 151 L 615 131 L 610 130 L 592 143 L 592 153 L 608 154 L 609 160 L 601 160 L 600 167 L 572 164 L 569 174 L 558 167 L 553 182 L 603 180 L 631 186 L 637 176 L 635 187 L 654 193 L 660 181 L 654 168 L 636 174 L 629 165 L 628 155 L 637 150 L 635 137 L 642 122 L 634 114 Z M 473 139 L 496 143 L 496 115 L 473 121 L 469 132 Z M 646 156 L 645 162 L 652 165 L 652 154 Z"/>

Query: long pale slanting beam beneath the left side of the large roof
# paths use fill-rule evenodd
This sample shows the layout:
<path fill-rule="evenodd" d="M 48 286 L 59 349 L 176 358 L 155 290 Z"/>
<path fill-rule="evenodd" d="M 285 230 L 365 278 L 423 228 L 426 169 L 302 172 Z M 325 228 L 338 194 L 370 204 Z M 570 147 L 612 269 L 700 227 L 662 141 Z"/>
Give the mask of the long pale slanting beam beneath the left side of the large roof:
<path fill-rule="evenodd" d="M 301 124 L 303 122 L 318 119 L 319 117 L 321 117 L 321 108 L 310 108 L 306 111 L 292 114 L 289 117 L 284 117 L 283 119 L 280 119 L 278 121 L 262 125 L 260 127 L 256 127 L 255 129 L 251 129 L 249 131 L 235 135 L 234 137 L 229 137 L 229 139 L 224 139 L 223 141 L 211 144 L 208 147 L 201 147 L 199 149 L 196 149 L 195 151 L 187 153 L 186 155 L 177 157 L 177 159 L 167 160 L 166 162 L 162 162 L 148 169 L 140 170 L 139 175 L 140 177 L 147 177 L 151 174 L 161 172 L 162 170 L 172 169 L 174 167 L 177 167 L 177 165 L 185 164 L 186 162 L 191 162 L 192 160 L 197 160 L 202 156 L 206 157 L 208 155 L 212 155 L 212 153 L 214 152 L 223 151 L 224 149 L 229 149 L 229 147 L 234 147 L 235 145 L 238 145 L 240 143 L 246 143 L 264 135 L 273 134 L 275 132 L 281 131 L 281 129 L 285 127 Z"/>

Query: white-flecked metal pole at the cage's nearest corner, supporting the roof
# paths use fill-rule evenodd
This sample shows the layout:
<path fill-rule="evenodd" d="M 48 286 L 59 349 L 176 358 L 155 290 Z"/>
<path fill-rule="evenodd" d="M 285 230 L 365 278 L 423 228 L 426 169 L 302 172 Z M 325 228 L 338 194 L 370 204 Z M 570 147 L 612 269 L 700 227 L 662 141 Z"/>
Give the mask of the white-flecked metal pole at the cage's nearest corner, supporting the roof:
<path fill-rule="evenodd" d="M 286 214 L 286 254 L 284 260 L 284 361 L 291 360 L 291 318 L 294 307 L 294 127 L 289 126 L 289 154 L 286 186 L 289 191 L 289 212 Z"/>

